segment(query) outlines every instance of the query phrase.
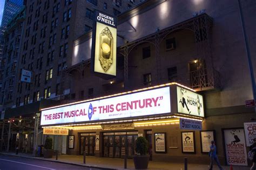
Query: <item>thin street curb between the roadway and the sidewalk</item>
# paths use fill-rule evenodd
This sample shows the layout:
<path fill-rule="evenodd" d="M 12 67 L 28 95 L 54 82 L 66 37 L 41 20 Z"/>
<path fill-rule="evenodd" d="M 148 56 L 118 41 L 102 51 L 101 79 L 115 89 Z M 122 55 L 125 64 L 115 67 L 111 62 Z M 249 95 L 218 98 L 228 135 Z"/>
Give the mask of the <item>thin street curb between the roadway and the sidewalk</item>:
<path fill-rule="evenodd" d="M 12 155 L 12 154 L 8 154 L 8 153 L 1 153 L 0 155 L 8 155 L 10 157 L 21 157 L 21 158 L 28 158 L 28 159 L 36 159 L 36 160 L 42 160 L 42 161 L 50 161 L 50 162 L 58 162 L 61 164 L 69 164 L 69 165 L 76 165 L 76 166 L 83 166 L 83 167 L 88 167 L 88 168 L 98 168 L 98 169 L 106 169 L 106 170 L 115 170 L 115 168 L 106 168 L 106 167 L 99 167 L 99 166 L 92 166 L 92 165 L 83 165 L 83 164 L 76 164 L 76 163 L 72 163 L 72 162 L 65 162 L 65 161 L 59 161 L 59 160 L 46 160 L 43 158 L 37 158 L 37 157 L 27 157 L 24 155 Z"/>

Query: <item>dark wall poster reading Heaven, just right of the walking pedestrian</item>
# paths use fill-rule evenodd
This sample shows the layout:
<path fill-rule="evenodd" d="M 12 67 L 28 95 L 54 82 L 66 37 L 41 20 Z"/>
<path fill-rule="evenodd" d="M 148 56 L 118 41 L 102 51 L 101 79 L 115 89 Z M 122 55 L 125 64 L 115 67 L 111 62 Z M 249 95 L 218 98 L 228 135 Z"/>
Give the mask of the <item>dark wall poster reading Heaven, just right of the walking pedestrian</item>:
<path fill-rule="evenodd" d="M 227 165 L 247 166 L 245 134 L 243 128 L 225 129 L 225 150 Z"/>

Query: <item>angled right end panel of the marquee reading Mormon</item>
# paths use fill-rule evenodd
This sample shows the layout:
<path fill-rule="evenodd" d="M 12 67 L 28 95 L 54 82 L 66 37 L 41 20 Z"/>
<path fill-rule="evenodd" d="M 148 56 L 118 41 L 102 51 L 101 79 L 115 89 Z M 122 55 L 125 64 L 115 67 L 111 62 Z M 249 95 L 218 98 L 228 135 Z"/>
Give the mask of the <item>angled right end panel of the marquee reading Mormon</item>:
<path fill-rule="evenodd" d="M 204 117 L 203 96 L 177 86 L 178 112 Z"/>

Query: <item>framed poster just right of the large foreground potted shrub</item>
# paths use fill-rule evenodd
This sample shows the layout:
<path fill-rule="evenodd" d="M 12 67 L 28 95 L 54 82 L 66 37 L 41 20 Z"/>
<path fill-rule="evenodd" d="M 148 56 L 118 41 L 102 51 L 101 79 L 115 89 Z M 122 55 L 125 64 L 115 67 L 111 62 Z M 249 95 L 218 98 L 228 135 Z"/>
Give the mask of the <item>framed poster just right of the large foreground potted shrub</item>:
<path fill-rule="evenodd" d="M 154 152 L 166 153 L 166 133 L 154 133 Z"/>

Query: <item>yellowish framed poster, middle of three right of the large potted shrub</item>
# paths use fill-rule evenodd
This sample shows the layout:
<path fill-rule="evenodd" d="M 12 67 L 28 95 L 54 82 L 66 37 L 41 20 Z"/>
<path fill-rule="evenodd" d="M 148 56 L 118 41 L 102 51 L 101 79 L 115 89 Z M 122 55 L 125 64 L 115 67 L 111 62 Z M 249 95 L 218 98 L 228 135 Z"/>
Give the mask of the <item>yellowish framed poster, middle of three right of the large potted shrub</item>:
<path fill-rule="evenodd" d="M 181 132 L 182 153 L 196 153 L 194 131 Z"/>

